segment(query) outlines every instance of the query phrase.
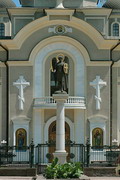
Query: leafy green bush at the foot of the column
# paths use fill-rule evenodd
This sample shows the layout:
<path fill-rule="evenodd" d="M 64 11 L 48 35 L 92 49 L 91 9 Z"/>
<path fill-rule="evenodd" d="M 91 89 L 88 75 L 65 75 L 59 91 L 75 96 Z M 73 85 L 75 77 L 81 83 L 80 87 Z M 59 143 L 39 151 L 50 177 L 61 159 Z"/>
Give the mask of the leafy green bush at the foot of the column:
<path fill-rule="evenodd" d="M 43 174 L 47 179 L 79 178 L 83 174 L 80 163 L 58 164 L 55 158 L 52 164 L 48 165 Z"/>

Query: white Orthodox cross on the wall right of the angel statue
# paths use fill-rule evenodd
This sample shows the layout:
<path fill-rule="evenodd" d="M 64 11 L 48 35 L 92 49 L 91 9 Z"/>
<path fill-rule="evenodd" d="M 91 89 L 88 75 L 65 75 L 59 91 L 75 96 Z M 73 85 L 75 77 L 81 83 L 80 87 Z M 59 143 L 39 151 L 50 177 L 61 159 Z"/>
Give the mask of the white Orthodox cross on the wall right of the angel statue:
<path fill-rule="evenodd" d="M 90 82 L 90 86 L 93 86 L 96 89 L 95 100 L 96 100 L 96 109 L 97 110 L 100 110 L 100 103 L 102 102 L 102 99 L 100 96 L 100 89 L 106 85 L 107 85 L 107 83 L 104 82 L 102 79 L 100 79 L 100 76 L 96 76 L 96 79 L 93 80 L 93 82 Z"/>

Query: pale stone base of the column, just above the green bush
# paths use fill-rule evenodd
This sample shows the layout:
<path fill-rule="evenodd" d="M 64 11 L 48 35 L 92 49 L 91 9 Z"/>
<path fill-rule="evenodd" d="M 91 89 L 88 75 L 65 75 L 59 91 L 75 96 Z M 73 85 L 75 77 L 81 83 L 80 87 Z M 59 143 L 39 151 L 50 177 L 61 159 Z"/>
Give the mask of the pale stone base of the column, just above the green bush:
<path fill-rule="evenodd" d="M 54 158 L 58 158 L 58 163 L 65 164 L 66 163 L 66 157 L 68 153 L 66 152 L 55 152 L 53 153 Z"/>

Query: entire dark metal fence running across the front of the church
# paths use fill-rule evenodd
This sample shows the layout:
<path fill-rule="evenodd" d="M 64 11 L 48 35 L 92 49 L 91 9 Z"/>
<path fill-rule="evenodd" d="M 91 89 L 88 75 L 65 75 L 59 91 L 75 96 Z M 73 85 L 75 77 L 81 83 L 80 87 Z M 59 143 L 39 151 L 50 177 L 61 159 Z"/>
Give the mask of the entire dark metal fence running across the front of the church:
<path fill-rule="evenodd" d="M 84 166 L 116 166 L 120 163 L 120 146 L 92 147 L 89 144 L 66 144 L 67 161 L 81 162 Z M 0 165 L 44 166 L 53 160 L 55 144 L 46 143 L 34 146 L 0 146 Z"/>

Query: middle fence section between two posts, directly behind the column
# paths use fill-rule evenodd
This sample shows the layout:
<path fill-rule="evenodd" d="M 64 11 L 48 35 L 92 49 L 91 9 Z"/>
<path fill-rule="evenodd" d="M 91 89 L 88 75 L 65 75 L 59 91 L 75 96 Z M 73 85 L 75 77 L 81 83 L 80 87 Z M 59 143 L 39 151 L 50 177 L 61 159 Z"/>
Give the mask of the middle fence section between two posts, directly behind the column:
<path fill-rule="evenodd" d="M 51 149 L 55 149 L 54 144 L 38 144 L 35 148 L 37 164 L 48 164 L 53 160 L 53 154 Z M 66 144 L 66 150 L 68 153 L 67 161 L 69 162 L 81 162 L 81 164 L 87 163 L 86 159 L 86 146 L 83 144 Z"/>

